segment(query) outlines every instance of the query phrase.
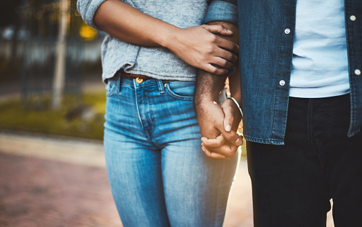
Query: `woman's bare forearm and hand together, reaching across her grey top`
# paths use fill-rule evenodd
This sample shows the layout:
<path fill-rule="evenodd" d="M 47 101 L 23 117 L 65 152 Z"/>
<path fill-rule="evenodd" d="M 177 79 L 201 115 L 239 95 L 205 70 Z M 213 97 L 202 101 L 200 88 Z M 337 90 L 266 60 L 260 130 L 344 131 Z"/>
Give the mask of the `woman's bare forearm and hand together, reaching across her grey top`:
<path fill-rule="evenodd" d="M 97 6 L 93 21 L 121 41 L 168 48 L 191 66 L 215 75 L 229 72 L 238 59 L 238 46 L 216 35 L 232 34 L 220 25 L 178 28 L 119 0 L 107 0 Z"/>

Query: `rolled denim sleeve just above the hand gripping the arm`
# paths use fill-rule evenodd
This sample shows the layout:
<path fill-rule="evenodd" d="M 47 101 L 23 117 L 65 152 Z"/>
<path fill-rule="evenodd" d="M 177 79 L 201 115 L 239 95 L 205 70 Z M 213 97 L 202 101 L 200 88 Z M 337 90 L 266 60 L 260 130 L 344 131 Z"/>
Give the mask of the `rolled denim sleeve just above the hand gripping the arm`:
<path fill-rule="evenodd" d="M 237 0 L 211 0 L 203 23 L 211 21 L 227 21 L 238 24 Z"/>

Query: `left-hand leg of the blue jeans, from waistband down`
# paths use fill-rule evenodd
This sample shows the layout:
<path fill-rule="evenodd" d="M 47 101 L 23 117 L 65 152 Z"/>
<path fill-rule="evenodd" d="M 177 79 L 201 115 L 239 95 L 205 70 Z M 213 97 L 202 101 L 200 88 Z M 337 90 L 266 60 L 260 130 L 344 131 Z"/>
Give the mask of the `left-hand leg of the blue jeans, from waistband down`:
<path fill-rule="evenodd" d="M 115 90 L 107 92 L 104 152 L 122 223 L 135 227 L 169 226 L 161 152 L 142 130 L 131 83 L 122 85 L 121 90 L 117 90 L 117 81 L 111 83 Z"/>

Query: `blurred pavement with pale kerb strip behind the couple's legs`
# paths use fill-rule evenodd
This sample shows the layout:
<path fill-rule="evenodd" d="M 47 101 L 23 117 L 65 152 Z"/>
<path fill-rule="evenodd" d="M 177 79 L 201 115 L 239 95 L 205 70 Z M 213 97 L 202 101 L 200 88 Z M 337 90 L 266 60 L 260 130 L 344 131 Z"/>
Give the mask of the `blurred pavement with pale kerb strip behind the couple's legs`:
<path fill-rule="evenodd" d="M 0 132 L 0 226 L 122 227 L 102 150 L 95 141 Z M 245 160 L 238 168 L 224 226 L 253 226 Z"/>

